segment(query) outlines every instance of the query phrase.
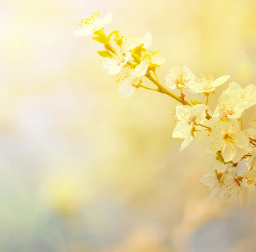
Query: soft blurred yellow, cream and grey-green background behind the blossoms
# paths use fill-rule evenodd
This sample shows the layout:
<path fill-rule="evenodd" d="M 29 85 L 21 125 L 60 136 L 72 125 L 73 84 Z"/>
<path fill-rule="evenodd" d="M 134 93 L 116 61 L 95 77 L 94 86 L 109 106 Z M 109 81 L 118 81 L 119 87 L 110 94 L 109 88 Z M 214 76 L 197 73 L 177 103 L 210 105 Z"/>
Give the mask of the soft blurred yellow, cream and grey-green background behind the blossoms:
<path fill-rule="evenodd" d="M 253 198 L 208 198 L 207 144 L 179 151 L 176 102 L 122 98 L 102 45 L 73 36 L 97 11 L 107 33 L 152 33 L 163 84 L 183 65 L 231 75 L 212 110 L 231 81 L 255 84 L 255 0 L 0 0 L 0 252 L 255 252 Z"/>

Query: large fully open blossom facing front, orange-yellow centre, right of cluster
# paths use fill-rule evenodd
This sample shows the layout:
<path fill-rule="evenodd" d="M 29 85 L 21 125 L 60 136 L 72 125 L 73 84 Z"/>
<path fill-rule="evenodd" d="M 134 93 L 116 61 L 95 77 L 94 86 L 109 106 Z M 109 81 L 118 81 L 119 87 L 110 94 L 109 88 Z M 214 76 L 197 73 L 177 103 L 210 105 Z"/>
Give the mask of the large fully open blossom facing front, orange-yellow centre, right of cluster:
<path fill-rule="evenodd" d="M 211 118 L 209 125 L 212 129 L 208 135 L 211 141 L 210 148 L 220 150 L 225 162 L 239 162 L 249 145 L 249 138 L 239 130 L 239 122 L 235 119 L 223 122 Z"/>

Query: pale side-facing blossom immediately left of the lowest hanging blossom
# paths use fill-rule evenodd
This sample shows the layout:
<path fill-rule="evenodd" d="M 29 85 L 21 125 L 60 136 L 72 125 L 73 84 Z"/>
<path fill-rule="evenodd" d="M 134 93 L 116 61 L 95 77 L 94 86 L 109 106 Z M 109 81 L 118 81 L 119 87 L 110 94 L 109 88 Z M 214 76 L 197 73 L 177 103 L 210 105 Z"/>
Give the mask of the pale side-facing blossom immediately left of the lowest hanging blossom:
<path fill-rule="evenodd" d="M 201 176 L 201 183 L 211 190 L 210 197 L 215 196 L 221 189 L 221 176 L 227 168 L 221 161 L 216 159 L 215 152 L 207 152 L 203 157 L 204 163 L 207 164 L 207 174 Z"/>

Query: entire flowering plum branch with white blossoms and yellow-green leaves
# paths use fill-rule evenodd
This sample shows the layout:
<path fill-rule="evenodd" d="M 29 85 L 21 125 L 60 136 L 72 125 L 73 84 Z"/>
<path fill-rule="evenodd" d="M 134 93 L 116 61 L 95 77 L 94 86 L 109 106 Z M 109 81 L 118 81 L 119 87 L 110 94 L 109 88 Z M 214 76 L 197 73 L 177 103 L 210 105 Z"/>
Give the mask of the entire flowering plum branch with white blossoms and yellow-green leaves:
<path fill-rule="evenodd" d="M 237 199 L 244 206 L 250 188 L 256 187 L 256 119 L 251 119 L 250 127 L 244 129 L 242 114 L 256 104 L 256 86 L 250 84 L 243 88 L 235 82 L 230 83 L 211 113 L 209 96 L 215 93 L 216 87 L 227 82 L 230 75 L 213 79 L 212 73 L 195 75 L 185 66 L 172 67 L 165 77 L 165 85 L 162 85 L 156 70 L 165 59 L 159 56 L 159 51 L 149 50 L 151 33 L 147 32 L 143 37 L 124 38 L 114 30 L 106 35 L 104 26 L 111 20 L 111 13 L 103 18 L 94 13 L 90 18 L 81 20 L 79 25 L 82 27 L 74 35 L 85 37 L 94 34 L 92 39 L 104 45 L 104 50 L 98 51 L 103 57 L 102 67 L 108 70 L 108 74 L 116 75 L 122 96 L 129 97 L 136 89 L 144 88 L 164 93 L 179 102 L 175 115 L 177 124 L 172 136 L 183 139 L 180 151 L 193 139 L 206 138 L 209 148 L 203 161 L 207 174 L 201 176 L 201 183 L 211 190 L 210 197 L 219 194 L 223 200 Z M 143 85 L 146 79 L 156 88 Z M 204 94 L 205 104 L 185 100 L 184 89 Z M 172 93 L 175 90 L 178 95 Z M 236 171 L 238 165 L 244 166 L 241 174 Z"/>

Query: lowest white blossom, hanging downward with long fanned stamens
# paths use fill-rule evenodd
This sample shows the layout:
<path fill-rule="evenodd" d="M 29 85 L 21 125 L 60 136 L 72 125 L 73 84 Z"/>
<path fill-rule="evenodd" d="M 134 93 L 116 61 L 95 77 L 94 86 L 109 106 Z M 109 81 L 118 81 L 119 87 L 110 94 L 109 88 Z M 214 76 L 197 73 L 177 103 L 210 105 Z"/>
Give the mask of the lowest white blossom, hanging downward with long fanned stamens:
<path fill-rule="evenodd" d="M 249 188 L 244 186 L 243 180 L 243 177 L 237 176 L 236 172 L 230 168 L 229 171 L 221 177 L 221 198 L 223 200 L 234 200 L 237 197 L 240 205 L 245 206 Z"/>

